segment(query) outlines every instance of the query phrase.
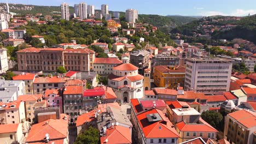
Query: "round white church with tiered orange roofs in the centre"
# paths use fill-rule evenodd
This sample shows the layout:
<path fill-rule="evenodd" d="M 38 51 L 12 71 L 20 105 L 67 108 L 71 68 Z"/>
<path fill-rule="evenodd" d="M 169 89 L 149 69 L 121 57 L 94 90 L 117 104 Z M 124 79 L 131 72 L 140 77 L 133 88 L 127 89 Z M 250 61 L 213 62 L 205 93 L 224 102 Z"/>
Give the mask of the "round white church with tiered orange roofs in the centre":
<path fill-rule="evenodd" d="M 112 74 L 108 76 L 108 86 L 113 88 L 118 101 L 129 102 L 130 99 L 143 97 L 143 78 L 138 74 L 138 68 L 127 60 L 113 67 Z"/>

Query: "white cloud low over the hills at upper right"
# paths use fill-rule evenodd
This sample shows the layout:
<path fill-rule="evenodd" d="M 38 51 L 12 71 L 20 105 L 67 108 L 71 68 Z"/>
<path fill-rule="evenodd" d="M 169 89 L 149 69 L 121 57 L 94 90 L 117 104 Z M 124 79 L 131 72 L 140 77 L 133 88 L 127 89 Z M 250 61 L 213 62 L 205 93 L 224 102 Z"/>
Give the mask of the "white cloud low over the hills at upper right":
<path fill-rule="evenodd" d="M 246 16 L 246 15 L 254 15 L 256 14 L 256 10 L 254 9 L 236 9 L 235 11 L 232 11 L 231 13 L 222 13 L 221 11 L 202 11 L 200 15 L 202 16 L 212 16 L 212 15 L 223 15 L 223 16 Z"/>

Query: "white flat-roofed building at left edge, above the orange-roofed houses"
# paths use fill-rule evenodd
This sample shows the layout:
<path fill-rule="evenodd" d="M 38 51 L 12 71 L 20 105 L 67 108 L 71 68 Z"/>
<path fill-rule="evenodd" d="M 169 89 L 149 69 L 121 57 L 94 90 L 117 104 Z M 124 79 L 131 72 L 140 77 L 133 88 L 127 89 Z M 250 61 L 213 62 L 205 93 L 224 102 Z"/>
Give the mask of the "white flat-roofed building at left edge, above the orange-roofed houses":
<path fill-rule="evenodd" d="M 0 81 L 0 92 L 15 92 L 16 98 L 26 94 L 24 81 Z M 16 99 L 13 99 L 14 101 Z M 1 101 L 1 100 L 0 100 Z"/>

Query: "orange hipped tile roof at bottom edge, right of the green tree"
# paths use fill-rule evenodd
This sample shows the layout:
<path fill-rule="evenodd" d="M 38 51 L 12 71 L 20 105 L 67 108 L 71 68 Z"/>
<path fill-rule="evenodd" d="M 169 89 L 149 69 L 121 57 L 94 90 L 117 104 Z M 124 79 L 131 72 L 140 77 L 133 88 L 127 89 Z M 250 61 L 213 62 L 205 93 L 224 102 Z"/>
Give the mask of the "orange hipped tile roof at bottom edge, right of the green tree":
<path fill-rule="evenodd" d="M 110 127 L 106 133 L 106 136 L 101 137 L 101 143 L 106 143 L 106 139 L 108 143 L 132 143 L 130 128 L 114 125 L 114 128 Z"/>

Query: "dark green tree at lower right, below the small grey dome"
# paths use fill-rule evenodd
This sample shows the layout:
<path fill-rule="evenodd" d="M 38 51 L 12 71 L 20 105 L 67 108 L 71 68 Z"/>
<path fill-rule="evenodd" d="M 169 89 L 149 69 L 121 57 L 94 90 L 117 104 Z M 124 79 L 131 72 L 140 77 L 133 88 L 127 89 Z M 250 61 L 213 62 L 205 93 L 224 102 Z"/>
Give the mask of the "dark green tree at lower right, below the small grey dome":
<path fill-rule="evenodd" d="M 205 111 L 202 113 L 201 117 L 216 129 L 221 129 L 223 126 L 223 116 L 219 112 Z"/>

